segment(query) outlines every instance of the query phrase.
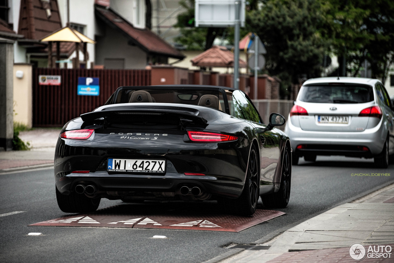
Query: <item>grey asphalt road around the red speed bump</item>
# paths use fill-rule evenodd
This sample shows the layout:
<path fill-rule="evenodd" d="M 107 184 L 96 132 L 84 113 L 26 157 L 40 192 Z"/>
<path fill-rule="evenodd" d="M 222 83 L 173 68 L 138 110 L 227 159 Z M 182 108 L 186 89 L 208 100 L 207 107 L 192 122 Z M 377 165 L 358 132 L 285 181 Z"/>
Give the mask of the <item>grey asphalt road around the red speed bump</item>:
<path fill-rule="evenodd" d="M 200 263 L 227 252 L 231 243 L 249 244 L 290 228 L 333 206 L 350 201 L 388 183 L 394 183 L 394 164 L 371 168 L 370 160 L 318 157 L 317 162 L 293 166 L 286 215 L 239 233 L 160 229 L 39 227 L 29 224 L 71 214 L 59 210 L 53 169 L 0 175 L 0 262 L 171 262 Z M 352 173 L 391 173 L 387 177 Z M 102 200 L 99 209 L 124 204 Z M 260 202 L 260 209 L 264 209 Z M 180 203 L 171 205 L 181 205 Z M 140 209 L 149 204 L 130 204 Z M 184 203 L 184 209 L 204 213 L 216 202 Z M 153 206 L 154 207 L 154 206 Z M 14 211 L 24 211 L 6 215 Z M 41 236 L 28 236 L 41 232 Z M 152 239 L 164 235 L 167 239 Z"/>

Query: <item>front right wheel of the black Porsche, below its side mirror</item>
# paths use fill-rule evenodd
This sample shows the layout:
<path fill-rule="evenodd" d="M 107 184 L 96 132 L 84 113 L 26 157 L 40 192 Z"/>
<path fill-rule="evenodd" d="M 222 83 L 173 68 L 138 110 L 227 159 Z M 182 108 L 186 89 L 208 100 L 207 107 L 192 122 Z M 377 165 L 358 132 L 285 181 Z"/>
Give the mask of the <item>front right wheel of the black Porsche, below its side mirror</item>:
<path fill-rule="evenodd" d="M 282 162 L 281 186 L 278 192 L 261 196 L 261 200 L 265 207 L 284 208 L 287 206 L 290 199 L 291 177 L 292 166 L 290 164 L 290 150 L 286 146 Z"/>

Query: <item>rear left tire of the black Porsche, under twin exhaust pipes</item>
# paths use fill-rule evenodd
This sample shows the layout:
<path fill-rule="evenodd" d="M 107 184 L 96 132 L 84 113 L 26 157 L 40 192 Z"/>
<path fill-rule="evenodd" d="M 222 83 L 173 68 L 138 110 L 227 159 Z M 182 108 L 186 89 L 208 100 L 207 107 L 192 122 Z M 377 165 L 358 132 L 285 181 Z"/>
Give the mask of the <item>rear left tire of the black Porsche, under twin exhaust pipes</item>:
<path fill-rule="evenodd" d="M 68 196 L 61 194 L 56 188 L 56 200 L 61 211 L 65 213 L 87 213 L 96 211 L 101 198 L 89 198 L 85 194 L 71 192 Z"/>

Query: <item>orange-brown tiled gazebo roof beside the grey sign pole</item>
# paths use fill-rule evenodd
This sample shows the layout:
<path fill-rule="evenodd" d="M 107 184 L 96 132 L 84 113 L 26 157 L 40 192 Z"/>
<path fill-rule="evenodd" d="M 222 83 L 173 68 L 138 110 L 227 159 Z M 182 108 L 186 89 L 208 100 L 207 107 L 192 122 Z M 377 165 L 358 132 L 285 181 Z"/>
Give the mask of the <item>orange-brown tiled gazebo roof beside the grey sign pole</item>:
<path fill-rule="evenodd" d="M 226 47 L 213 46 L 190 61 L 198 67 L 234 67 L 234 54 Z M 246 67 L 247 64 L 240 59 L 239 66 Z"/>

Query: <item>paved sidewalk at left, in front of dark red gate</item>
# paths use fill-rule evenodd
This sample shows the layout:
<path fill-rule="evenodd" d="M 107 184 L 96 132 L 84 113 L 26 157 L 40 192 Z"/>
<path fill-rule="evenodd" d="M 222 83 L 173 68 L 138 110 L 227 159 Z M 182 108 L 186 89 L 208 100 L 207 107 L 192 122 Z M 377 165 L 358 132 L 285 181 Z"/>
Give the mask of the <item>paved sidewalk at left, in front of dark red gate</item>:
<path fill-rule="evenodd" d="M 53 166 L 60 129 L 35 128 L 19 138 L 29 142 L 30 151 L 0 151 L 0 173 Z"/>

